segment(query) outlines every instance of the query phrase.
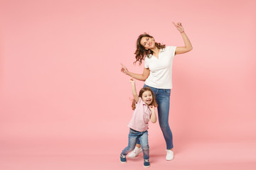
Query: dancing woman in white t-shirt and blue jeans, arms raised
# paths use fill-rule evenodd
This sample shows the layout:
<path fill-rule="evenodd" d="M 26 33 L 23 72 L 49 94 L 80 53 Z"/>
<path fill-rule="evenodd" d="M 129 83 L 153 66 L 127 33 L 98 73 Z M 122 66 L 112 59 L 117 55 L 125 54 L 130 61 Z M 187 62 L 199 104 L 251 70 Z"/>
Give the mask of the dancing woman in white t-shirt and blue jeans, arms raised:
<path fill-rule="evenodd" d="M 174 26 L 181 33 L 184 42 L 183 47 L 166 47 L 166 45 L 155 42 L 151 35 L 139 35 L 135 52 L 136 61 L 134 63 L 139 62 L 139 64 L 142 64 L 142 60 L 145 60 L 144 72 L 142 74 L 129 72 L 123 64 L 121 69 L 124 74 L 134 79 L 145 81 L 144 87 L 150 87 L 154 91 L 156 103 L 158 104 L 159 125 L 166 141 L 166 160 L 168 161 L 174 159 L 173 136 L 169 127 L 172 63 L 174 55 L 183 54 L 193 49 L 181 23 L 174 23 Z M 137 147 L 128 157 L 136 157 L 140 152 L 142 152 L 142 149 L 138 141 Z"/>

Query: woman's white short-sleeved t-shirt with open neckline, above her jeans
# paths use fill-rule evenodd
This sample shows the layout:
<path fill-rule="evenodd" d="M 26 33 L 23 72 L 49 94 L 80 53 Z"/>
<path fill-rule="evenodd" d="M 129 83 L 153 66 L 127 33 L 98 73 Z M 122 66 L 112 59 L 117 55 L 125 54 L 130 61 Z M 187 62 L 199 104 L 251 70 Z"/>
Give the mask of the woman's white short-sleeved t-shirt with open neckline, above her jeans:
<path fill-rule="evenodd" d="M 176 47 L 168 46 L 159 52 L 159 58 L 154 55 L 145 57 L 145 68 L 150 69 L 145 84 L 157 89 L 172 89 L 172 65 Z"/>

